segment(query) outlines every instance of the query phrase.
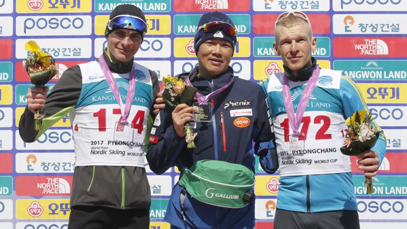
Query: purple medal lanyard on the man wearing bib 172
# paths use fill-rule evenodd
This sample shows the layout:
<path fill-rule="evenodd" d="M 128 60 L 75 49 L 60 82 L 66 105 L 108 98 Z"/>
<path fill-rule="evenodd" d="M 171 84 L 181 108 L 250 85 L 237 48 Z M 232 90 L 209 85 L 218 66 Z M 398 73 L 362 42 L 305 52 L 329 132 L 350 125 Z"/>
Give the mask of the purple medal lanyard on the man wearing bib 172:
<path fill-rule="evenodd" d="M 294 113 L 294 106 L 293 101 L 291 100 L 291 94 L 289 91 L 288 79 L 284 75 L 283 78 L 283 98 L 284 98 L 284 105 L 285 110 L 288 116 L 288 122 L 293 129 L 293 136 L 300 136 L 300 132 L 298 132 L 298 128 L 300 128 L 301 120 L 304 115 L 305 108 L 307 106 L 308 100 L 311 97 L 312 91 L 315 88 L 316 80 L 319 76 L 319 68 L 318 65 L 315 65 L 315 68 L 312 72 L 311 78 L 309 78 L 308 83 L 305 87 L 303 95 L 301 96 L 300 103 L 298 104 L 297 113 Z M 295 120 L 295 122 L 294 122 Z"/>

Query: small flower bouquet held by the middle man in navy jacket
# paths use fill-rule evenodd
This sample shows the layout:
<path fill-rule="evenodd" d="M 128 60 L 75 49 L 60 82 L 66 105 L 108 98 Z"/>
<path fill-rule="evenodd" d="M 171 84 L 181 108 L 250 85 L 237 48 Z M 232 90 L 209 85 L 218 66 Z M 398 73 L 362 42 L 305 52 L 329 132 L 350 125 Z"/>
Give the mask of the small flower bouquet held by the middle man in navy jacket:
<path fill-rule="evenodd" d="M 162 85 L 164 87 L 162 96 L 169 106 L 175 107 L 182 103 L 185 103 L 188 106 L 192 105 L 196 93 L 196 88 L 187 85 L 183 79 L 171 77 L 168 75 L 167 77 L 163 77 Z M 192 132 L 192 126 L 190 122 L 185 123 L 184 132 L 188 149 L 195 149 L 194 139 L 196 137 L 196 133 Z"/>

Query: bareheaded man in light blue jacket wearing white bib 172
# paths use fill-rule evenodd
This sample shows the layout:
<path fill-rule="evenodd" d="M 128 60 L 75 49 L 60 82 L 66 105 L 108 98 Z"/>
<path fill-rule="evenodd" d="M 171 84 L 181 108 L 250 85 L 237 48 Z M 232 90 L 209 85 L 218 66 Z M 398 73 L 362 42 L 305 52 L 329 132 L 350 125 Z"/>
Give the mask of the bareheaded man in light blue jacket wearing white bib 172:
<path fill-rule="evenodd" d="M 274 228 L 359 228 L 350 157 L 340 148 L 357 110 L 368 110 L 355 82 L 341 71 L 321 69 L 308 17 L 285 12 L 276 20 L 275 43 L 284 73 L 260 82 L 273 120 L 280 185 Z M 386 139 L 358 156 L 359 169 L 373 177 L 382 162 Z M 275 170 L 277 167 L 275 168 Z"/>

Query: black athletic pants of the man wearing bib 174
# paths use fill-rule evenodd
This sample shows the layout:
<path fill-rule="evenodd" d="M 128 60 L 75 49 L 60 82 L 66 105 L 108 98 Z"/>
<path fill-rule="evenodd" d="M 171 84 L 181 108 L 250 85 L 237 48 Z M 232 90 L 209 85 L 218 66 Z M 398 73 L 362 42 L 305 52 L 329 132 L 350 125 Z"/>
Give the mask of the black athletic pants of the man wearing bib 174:
<path fill-rule="evenodd" d="M 98 206 L 74 206 L 69 229 L 149 229 L 148 209 L 114 209 Z"/>

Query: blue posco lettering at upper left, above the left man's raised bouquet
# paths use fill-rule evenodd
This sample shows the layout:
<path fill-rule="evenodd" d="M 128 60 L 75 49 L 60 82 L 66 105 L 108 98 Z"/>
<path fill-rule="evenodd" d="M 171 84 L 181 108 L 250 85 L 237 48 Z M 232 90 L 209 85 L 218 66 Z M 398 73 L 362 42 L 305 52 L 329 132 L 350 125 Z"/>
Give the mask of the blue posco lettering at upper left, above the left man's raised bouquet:
<path fill-rule="evenodd" d="M 27 18 L 24 20 L 24 34 L 27 33 L 27 30 L 40 29 L 45 30 L 50 28 L 51 30 L 56 30 L 61 27 L 64 30 L 73 27 L 79 29 L 83 27 L 83 19 L 80 17 L 69 18 L 69 17 L 38 17 L 38 18 Z"/>

